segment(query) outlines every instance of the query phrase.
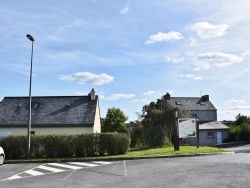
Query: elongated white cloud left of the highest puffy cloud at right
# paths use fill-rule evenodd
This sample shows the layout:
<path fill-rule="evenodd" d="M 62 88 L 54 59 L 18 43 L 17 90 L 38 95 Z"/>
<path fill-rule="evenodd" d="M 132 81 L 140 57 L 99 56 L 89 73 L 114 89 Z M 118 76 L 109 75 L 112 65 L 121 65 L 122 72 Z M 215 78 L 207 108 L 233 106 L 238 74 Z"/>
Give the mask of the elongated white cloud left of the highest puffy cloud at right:
<path fill-rule="evenodd" d="M 149 39 L 145 42 L 145 44 L 154 44 L 156 42 L 166 42 L 166 41 L 175 41 L 175 40 L 181 40 L 184 37 L 181 33 L 176 31 L 171 31 L 169 33 L 162 33 L 159 32 L 156 35 L 151 35 Z"/>

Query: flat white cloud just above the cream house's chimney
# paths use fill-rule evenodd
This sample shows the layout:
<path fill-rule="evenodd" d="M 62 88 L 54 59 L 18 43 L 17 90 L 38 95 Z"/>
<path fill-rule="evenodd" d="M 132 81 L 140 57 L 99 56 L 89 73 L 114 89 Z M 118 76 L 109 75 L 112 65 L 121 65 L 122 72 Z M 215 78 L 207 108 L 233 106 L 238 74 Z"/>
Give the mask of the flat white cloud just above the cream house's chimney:
<path fill-rule="evenodd" d="M 97 75 L 90 72 L 78 72 L 67 76 L 61 76 L 60 79 L 80 84 L 90 83 L 94 85 L 103 85 L 112 82 L 114 77 L 105 73 Z"/>

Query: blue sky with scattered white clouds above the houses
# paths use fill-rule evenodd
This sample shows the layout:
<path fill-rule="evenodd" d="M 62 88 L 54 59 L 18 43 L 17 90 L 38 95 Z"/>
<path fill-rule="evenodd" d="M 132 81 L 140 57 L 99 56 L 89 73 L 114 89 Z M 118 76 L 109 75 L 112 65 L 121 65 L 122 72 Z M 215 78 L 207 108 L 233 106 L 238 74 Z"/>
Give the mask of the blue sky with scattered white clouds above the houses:
<path fill-rule="evenodd" d="M 249 0 L 0 0 L 0 101 L 99 96 L 135 121 L 166 92 L 250 115 Z"/>

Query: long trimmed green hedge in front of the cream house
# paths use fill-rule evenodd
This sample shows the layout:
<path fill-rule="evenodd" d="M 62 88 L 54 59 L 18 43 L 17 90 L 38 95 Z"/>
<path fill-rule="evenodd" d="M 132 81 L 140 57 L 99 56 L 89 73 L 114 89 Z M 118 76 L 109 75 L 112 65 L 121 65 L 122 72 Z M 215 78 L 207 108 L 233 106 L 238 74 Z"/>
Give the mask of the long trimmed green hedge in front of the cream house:
<path fill-rule="evenodd" d="M 24 158 L 27 136 L 8 136 L 0 140 L 7 159 Z M 129 135 L 101 133 L 80 135 L 32 135 L 31 158 L 87 157 L 125 154 L 129 149 Z"/>

